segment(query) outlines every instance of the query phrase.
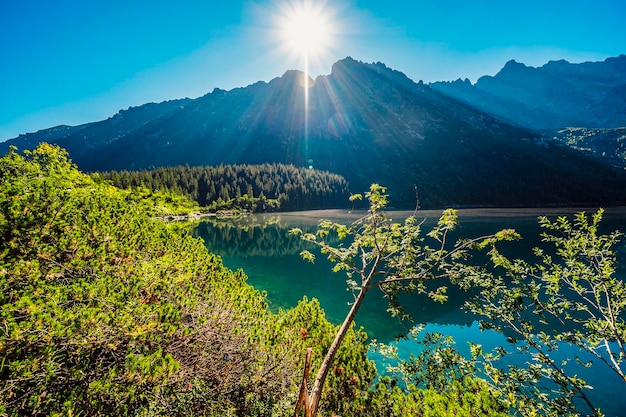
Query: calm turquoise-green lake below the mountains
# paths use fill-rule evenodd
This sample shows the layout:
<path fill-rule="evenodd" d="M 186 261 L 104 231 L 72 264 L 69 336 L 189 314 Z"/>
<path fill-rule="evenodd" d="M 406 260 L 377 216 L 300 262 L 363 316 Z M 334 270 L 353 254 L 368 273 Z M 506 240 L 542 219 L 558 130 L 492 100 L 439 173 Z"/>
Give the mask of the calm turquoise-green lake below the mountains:
<path fill-rule="evenodd" d="M 465 237 L 476 237 L 494 233 L 503 228 L 514 228 L 521 235 L 518 242 L 507 242 L 503 247 L 508 255 L 530 259 L 531 249 L 541 244 L 541 228 L 537 216 L 550 218 L 557 215 L 571 215 L 582 209 L 465 209 L 459 210 L 460 228 Z M 595 209 L 585 210 L 588 214 Z M 196 229 L 208 249 L 220 255 L 224 264 L 231 269 L 243 269 L 248 282 L 259 290 L 266 291 L 271 309 L 290 308 L 304 296 L 317 298 L 326 312 L 329 321 L 339 324 L 350 306 L 352 294 L 346 291 L 345 273 L 333 273 L 332 264 L 323 255 L 316 262 L 305 262 L 299 253 L 304 243 L 288 231 L 299 227 L 304 231 L 314 231 L 319 219 L 336 222 L 350 222 L 363 213 L 344 210 L 320 210 L 280 214 L 259 214 L 241 219 L 209 219 Z M 413 212 L 389 212 L 390 218 L 401 221 Z M 419 217 L 426 219 L 423 230 L 436 223 L 440 211 L 419 211 Z M 626 209 L 607 209 L 602 221 L 602 232 L 626 231 Z M 626 265 L 626 245 L 617 248 L 620 264 Z M 311 249 L 311 248 L 309 248 Z M 622 268 L 620 273 L 626 268 Z M 405 333 L 415 323 L 426 324 L 426 331 L 440 331 L 455 338 L 459 350 L 466 341 L 482 343 L 484 347 L 495 347 L 503 343 L 503 337 L 495 332 L 481 332 L 476 317 L 466 313 L 461 306 L 467 295 L 455 287 L 448 287 L 449 300 L 439 304 L 426 296 L 405 298 L 404 305 L 414 322 L 400 322 L 386 311 L 386 302 L 380 291 L 368 293 L 365 302 L 356 316 L 356 324 L 363 326 L 371 339 L 379 342 L 392 342 L 396 336 Z M 401 354 L 408 356 L 419 349 L 414 342 L 400 341 Z M 383 358 L 372 355 L 379 371 L 385 368 Z M 592 368 L 593 369 L 593 368 Z M 623 383 L 615 380 L 613 374 L 591 372 L 585 376 L 595 387 L 594 396 L 602 397 L 602 408 L 607 415 L 626 415 L 626 398 L 616 396 L 615 387 L 623 388 Z M 617 384 L 615 384 L 617 382 Z M 606 399 L 605 399 L 606 398 Z"/>

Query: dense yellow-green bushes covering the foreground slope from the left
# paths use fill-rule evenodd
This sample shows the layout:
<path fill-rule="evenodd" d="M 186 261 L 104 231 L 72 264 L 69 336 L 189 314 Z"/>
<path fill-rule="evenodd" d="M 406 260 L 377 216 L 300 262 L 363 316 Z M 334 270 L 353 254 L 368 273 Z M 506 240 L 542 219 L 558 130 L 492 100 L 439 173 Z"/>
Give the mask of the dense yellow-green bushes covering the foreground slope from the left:
<path fill-rule="evenodd" d="M 12 149 L 0 179 L 0 415 L 291 415 L 302 352 L 316 369 L 335 332 L 317 301 L 270 312 L 243 272 L 57 147 Z M 376 383 L 366 340 L 346 336 L 323 414 L 500 415 L 481 384 Z"/>

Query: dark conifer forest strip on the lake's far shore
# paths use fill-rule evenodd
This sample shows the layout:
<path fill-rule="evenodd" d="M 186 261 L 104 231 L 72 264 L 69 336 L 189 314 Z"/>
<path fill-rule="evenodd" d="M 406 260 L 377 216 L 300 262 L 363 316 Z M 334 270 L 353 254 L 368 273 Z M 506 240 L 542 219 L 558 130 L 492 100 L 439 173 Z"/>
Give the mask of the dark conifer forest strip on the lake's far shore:
<path fill-rule="evenodd" d="M 284 164 L 178 166 L 98 175 L 120 188 L 182 194 L 211 212 L 340 207 L 348 195 L 348 184 L 339 175 Z"/>

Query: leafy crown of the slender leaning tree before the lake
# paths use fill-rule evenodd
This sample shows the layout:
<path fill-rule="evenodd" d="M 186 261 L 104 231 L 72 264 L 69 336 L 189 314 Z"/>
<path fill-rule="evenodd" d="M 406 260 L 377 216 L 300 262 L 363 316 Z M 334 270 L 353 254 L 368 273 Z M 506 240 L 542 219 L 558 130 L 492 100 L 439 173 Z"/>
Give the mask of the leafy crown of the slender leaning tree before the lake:
<path fill-rule="evenodd" d="M 455 210 L 445 210 L 437 225 L 426 237 L 422 224 L 415 216 L 403 223 L 387 218 L 386 188 L 373 184 L 365 193 L 369 212 L 351 225 L 320 221 L 315 233 L 292 229 L 294 235 L 321 248 L 321 252 L 335 264 L 335 272 L 344 271 L 348 289 L 356 293 L 379 288 L 389 301 L 389 312 L 394 316 L 408 317 L 399 302 L 400 294 L 425 294 L 437 302 L 445 302 L 446 287 L 440 285 L 427 289 L 426 282 L 441 278 L 458 278 L 461 274 L 479 277 L 483 271 L 467 261 L 470 250 L 489 243 L 512 239 L 514 233 L 499 233 L 470 240 L 448 241 L 449 234 L 458 225 Z M 360 199 L 354 195 L 352 199 Z M 344 244 L 345 242 L 345 244 Z M 302 257 L 314 261 L 310 251 Z"/>

